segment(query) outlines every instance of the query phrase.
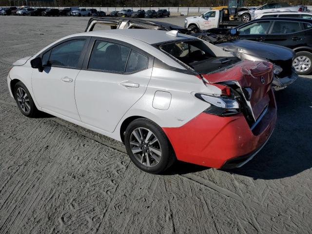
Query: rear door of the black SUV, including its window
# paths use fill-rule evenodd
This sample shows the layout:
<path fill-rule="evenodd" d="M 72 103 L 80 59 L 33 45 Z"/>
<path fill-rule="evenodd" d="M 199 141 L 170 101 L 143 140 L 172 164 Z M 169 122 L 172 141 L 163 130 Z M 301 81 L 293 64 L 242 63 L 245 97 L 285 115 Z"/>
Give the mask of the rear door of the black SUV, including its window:
<path fill-rule="evenodd" d="M 305 33 L 302 27 L 298 21 L 273 21 L 265 42 L 291 49 L 301 46 L 305 41 Z"/>

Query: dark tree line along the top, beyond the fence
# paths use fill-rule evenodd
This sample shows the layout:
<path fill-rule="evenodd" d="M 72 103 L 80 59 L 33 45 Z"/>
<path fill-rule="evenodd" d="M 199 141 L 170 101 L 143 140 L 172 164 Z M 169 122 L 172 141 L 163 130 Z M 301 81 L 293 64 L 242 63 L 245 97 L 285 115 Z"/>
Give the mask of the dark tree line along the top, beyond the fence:
<path fill-rule="evenodd" d="M 267 0 L 245 0 L 245 6 L 259 6 Z M 312 5 L 312 0 L 277 0 L 291 5 Z M 82 7 L 215 7 L 227 0 L 0 0 L 0 6 L 82 6 Z"/>

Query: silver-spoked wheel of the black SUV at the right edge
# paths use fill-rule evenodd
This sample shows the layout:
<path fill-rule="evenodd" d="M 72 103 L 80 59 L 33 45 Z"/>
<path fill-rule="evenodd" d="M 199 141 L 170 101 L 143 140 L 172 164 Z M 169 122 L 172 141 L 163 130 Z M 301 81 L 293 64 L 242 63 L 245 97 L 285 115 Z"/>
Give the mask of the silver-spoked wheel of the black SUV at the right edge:
<path fill-rule="evenodd" d="M 308 75 L 312 72 L 312 53 L 306 51 L 297 52 L 292 60 L 292 66 L 298 75 Z"/>

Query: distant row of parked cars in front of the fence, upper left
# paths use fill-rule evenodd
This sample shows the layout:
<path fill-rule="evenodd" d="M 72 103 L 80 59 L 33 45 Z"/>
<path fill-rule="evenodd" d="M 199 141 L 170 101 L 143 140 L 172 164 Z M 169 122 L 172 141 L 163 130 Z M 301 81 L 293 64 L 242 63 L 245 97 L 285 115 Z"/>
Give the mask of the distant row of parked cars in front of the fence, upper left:
<path fill-rule="evenodd" d="M 66 7 L 64 9 L 49 9 L 49 8 L 31 8 L 31 7 L 6 7 L 0 8 L 0 15 L 18 15 L 18 16 L 94 16 L 94 17 L 133 17 L 133 18 L 161 18 L 169 17 L 170 11 L 166 9 L 155 10 L 138 10 L 124 9 L 121 11 L 112 11 L 106 15 L 104 11 L 97 9 L 79 8 L 79 7 Z"/>

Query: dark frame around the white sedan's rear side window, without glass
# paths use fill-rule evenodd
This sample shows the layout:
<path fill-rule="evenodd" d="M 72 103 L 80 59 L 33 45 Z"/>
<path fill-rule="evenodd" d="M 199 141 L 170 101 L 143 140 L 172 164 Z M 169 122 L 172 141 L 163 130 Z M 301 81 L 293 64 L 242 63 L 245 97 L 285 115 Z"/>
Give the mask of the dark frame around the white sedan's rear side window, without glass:
<path fill-rule="evenodd" d="M 90 41 L 89 41 L 89 45 L 86 49 L 86 53 L 84 55 L 84 59 L 83 59 L 83 63 L 82 63 L 82 67 L 81 70 L 84 71 L 94 71 L 94 72 L 103 72 L 103 73 L 114 73 L 114 74 L 120 74 L 120 75 L 131 75 L 131 74 L 135 74 L 137 72 L 149 69 L 153 67 L 153 63 L 154 63 L 154 57 L 148 53 L 146 53 L 145 51 L 141 50 L 140 48 L 137 48 L 136 46 L 129 44 L 127 42 L 121 41 L 121 40 L 117 40 L 117 39 L 110 39 L 110 38 L 102 38 L 102 37 L 90 37 Z M 92 49 L 94 47 L 94 44 L 96 43 L 97 40 L 101 40 L 101 41 L 108 41 L 108 42 L 112 42 L 112 43 L 116 43 L 116 44 L 120 44 L 123 46 L 126 46 L 128 48 L 130 48 L 130 52 L 126 61 L 126 65 L 125 65 L 125 69 L 127 67 L 128 64 L 128 59 L 130 57 L 130 53 L 133 50 L 137 51 L 138 53 L 144 55 L 145 57 L 147 57 L 148 61 L 147 61 L 147 66 L 139 71 L 134 71 L 134 72 L 129 72 L 129 73 L 125 73 L 125 69 L 124 72 L 115 72 L 115 71 L 103 71 L 103 70 L 96 70 L 96 69 L 89 69 L 88 68 L 88 64 L 89 64 L 89 60 L 91 57 L 91 53 L 92 53 Z"/>

